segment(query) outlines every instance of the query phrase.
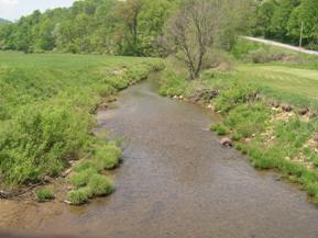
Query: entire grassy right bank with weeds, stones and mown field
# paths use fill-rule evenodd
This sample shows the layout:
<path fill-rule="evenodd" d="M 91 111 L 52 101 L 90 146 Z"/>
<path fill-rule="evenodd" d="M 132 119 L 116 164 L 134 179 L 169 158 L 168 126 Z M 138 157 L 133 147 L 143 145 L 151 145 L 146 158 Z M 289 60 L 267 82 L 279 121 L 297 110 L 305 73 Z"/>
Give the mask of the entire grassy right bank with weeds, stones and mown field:
<path fill-rule="evenodd" d="M 165 70 L 160 93 L 223 115 L 211 129 L 234 141 L 257 169 L 277 169 L 318 203 L 318 71 L 290 64 L 242 64 L 188 81 Z"/>

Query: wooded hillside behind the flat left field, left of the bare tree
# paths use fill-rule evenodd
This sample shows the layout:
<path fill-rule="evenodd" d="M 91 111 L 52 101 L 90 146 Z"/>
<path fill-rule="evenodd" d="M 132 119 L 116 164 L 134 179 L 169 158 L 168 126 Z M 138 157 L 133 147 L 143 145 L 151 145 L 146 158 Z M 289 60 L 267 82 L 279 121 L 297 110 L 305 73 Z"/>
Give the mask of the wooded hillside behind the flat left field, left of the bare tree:
<path fill-rule="evenodd" d="M 57 8 L 44 13 L 34 11 L 15 23 L 0 27 L 0 49 L 162 56 L 166 54 L 166 24 L 188 2 L 81 0 L 74 2 L 70 8 Z M 200 4 L 199 2 L 195 1 L 195 5 Z M 222 8 L 222 12 L 231 18 L 233 1 L 211 2 L 219 5 L 219 9 Z M 235 5 L 246 5 L 252 0 L 235 2 Z M 206 16 L 213 21 L 213 15 Z M 227 27 L 229 37 L 232 37 L 232 26 Z M 232 39 L 227 38 L 224 44 L 229 44 L 229 41 Z"/>

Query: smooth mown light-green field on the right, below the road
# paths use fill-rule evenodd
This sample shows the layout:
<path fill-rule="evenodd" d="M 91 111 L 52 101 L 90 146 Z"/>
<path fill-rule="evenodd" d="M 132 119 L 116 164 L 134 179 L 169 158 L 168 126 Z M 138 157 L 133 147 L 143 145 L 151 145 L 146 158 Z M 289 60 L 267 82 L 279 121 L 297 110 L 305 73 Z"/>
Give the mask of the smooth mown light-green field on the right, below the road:
<path fill-rule="evenodd" d="M 318 70 L 276 65 L 242 65 L 238 67 L 234 77 L 259 84 L 265 94 L 279 101 L 318 107 Z"/>

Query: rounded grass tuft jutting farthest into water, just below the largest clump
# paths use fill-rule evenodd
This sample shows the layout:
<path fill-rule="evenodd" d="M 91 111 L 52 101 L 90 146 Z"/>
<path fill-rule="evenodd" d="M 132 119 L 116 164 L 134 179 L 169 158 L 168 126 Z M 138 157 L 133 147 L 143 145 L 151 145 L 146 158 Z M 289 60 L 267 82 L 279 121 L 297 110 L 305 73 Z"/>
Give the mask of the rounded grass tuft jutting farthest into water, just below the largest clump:
<path fill-rule="evenodd" d="M 106 196 L 113 192 L 114 184 L 106 175 L 95 174 L 89 180 L 88 190 L 92 196 Z"/>

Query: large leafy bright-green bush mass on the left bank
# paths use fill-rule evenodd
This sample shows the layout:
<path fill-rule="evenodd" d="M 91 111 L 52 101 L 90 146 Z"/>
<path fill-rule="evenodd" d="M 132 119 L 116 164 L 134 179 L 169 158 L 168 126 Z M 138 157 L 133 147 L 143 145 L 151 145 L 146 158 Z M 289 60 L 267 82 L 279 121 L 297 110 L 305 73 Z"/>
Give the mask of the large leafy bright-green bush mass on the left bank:
<path fill-rule="evenodd" d="M 0 173 L 13 185 L 58 175 L 65 158 L 76 158 L 86 147 L 89 123 L 89 116 L 57 102 L 24 107 L 0 140 Z"/>

